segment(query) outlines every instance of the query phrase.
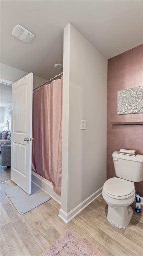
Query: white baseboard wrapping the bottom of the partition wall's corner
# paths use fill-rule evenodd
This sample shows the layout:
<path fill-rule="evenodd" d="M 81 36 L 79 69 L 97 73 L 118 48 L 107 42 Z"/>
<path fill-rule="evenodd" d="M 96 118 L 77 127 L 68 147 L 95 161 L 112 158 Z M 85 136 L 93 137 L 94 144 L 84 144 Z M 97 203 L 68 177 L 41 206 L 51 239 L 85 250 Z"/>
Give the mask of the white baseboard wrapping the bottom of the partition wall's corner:
<path fill-rule="evenodd" d="M 82 203 L 77 205 L 70 212 L 66 213 L 62 208 L 59 210 L 59 217 L 65 222 L 70 222 L 77 214 L 79 214 L 85 207 L 87 207 L 92 201 L 94 201 L 102 193 L 102 188 L 98 189 L 91 196 L 86 198 Z"/>

